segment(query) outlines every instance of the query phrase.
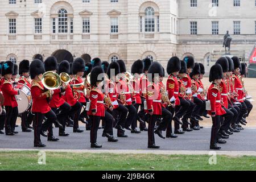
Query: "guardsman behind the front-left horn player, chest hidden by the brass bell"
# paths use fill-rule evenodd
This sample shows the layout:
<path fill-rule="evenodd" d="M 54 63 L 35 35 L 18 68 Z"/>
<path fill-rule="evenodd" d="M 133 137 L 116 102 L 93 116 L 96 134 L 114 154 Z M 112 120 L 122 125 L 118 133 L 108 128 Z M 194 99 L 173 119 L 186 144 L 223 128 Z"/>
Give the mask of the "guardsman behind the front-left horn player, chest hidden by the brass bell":
<path fill-rule="evenodd" d="M 46 72 L 57 72 L 57 59 L 54 56 L 47 57 L 47 59 L 44 61 L 44 69 Z M 60 88 L 57 88 L 53 90 L 53 95 L 51 100 L 49 101 L 49 106 L 53 110 L 53 112 L 57 116 L 57 120 L 55 121 L 55 126 L 59 127 L 59 132 L 61 132 L 61 129 L 65 127 L 65 120 L 68 117 L 69 110 L 71 110 L 71 106 L 67 102 L 61 98 L 61 95 L 63 95 L 65 91 L 65 85 L 61 83 L 62 85 Z M 57 109 L 59 108 L 59 113 L 57 113 Z M 64 125 L 64 126 L 63 126 Z M 53 131 L 52 126 L 48 129 L 48 141 L 57 141 L 58 138 L 53 137 Z"/>

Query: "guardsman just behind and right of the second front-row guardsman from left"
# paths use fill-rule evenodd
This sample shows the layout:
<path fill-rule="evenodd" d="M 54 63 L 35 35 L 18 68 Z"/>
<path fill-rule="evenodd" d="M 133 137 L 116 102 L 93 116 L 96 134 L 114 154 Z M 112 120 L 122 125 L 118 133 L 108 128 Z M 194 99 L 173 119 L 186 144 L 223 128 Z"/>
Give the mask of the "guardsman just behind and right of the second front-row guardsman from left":
<path fill-rule="evenodd" d="M 118 79 L 116 77 L 119 73 L 119 64 L 117 62 L 110 63 L 107 71 L 109 77 L 108 94 L 113 105 L 113 117 L 115 119 L 114 127 L 117 129 L 117 136 L 128 137 L 125 135 L 125 130 L 123 129 L 125 126 L 128 109 L 127 107 L 123 106 L 121 102 L 118 102 L 117 84 L 115 82 L 115 80 Z"/>

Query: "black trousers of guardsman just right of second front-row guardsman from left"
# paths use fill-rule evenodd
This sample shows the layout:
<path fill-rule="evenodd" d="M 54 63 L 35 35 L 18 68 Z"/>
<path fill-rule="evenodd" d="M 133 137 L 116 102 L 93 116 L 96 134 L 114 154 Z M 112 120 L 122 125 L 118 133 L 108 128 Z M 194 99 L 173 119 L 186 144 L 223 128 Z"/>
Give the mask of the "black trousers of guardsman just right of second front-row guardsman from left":
<path fill-rule="evenodd" d="M 116 125 L 121 125 L 122 127 L 125 127 L 126 123 L 126 117 L 128 114 L 127 107 L 123 106 L 122 104 L 118 104 L 119 106 L 116 109 L 113 109 L 113 117 L 115 119 Z M 124 131 L 117 130 L 118 135 L 124 134 Z"/>

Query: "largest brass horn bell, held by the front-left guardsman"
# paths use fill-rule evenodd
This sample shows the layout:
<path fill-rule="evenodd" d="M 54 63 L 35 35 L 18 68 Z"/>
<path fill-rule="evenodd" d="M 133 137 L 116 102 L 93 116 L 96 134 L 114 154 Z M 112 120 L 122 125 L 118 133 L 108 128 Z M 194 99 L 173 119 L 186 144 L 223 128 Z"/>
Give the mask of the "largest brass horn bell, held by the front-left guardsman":
<path fill-rule="evenodd" d="M 42 84 L 48 90 L 55 90 L 61 86 L 61 78 L 57 73 L 49 71 L 43 74 Z"/>

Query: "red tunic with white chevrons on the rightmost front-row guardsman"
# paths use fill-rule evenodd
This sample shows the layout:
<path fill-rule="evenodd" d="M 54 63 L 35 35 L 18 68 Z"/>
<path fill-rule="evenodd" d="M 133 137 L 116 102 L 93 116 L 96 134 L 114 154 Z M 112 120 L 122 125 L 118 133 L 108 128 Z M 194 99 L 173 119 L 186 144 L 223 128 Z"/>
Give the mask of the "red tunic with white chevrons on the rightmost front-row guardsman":
<path fill-rule="evenodd" d="M 209 115 L 223 115 L 226 111 L 221 107 L 221 93 L 216 84 L 211 84 L 208 93 L 207 100 L 210 101 Z"/>

